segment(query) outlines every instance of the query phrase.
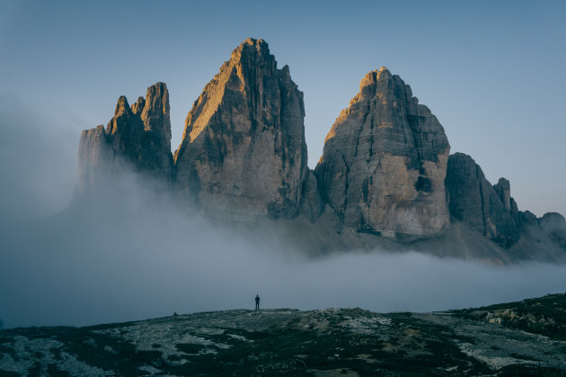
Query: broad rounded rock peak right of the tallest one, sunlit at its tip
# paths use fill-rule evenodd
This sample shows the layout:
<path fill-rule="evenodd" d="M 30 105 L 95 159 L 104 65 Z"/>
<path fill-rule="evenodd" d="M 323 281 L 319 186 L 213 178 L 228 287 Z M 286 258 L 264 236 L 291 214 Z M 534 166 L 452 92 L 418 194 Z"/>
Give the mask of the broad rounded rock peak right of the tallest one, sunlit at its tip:
<path fill-rule="evenodd" d="M 438 234 L 449 224 L 450 146 L 399 76 L 369 72 L 326 137 L 315 174 L 344 224 L 384 235 Z"/>

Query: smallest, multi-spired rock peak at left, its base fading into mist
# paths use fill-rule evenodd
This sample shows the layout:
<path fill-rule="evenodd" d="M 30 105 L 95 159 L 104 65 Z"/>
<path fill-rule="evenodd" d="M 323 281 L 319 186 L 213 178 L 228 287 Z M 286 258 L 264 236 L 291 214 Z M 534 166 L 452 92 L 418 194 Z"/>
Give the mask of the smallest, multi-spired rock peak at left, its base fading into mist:
<path fill-rule="evenodd" d="M 111 121 L 84 130 L 79 145 L 79 191 L 102 183 L 104 176 L 127 171 L 167 184 L 172 172 L 169 93 L 164 83 L 147 89 L 131 107 L 120 96 Z"/>

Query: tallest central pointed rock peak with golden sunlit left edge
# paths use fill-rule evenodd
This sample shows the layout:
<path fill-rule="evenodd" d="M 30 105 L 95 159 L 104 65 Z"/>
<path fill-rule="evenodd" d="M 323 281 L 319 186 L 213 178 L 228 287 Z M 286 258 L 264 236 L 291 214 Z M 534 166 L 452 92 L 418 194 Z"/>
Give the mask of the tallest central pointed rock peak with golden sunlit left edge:
<path fill-rule="evenodd" d="M 304 117 L 288 67 L 265 41 L 245 40 L 187 116 L 177 190 L 213 217 L 293 217 L 307 174 Z"/>

